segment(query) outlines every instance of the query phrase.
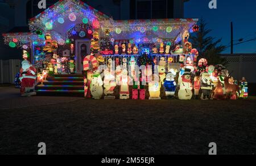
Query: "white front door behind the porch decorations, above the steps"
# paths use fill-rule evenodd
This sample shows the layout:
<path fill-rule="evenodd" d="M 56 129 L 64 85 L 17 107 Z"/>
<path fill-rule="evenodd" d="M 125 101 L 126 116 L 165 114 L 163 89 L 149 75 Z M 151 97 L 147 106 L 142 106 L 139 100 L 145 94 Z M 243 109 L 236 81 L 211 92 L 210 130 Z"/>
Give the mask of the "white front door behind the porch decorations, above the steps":
<path fill-rule="evenodd" d="M 83 70 L 82 61 L 90 54 L 90 40 L 76 40 L 76 73 L 81 74 Z"/>

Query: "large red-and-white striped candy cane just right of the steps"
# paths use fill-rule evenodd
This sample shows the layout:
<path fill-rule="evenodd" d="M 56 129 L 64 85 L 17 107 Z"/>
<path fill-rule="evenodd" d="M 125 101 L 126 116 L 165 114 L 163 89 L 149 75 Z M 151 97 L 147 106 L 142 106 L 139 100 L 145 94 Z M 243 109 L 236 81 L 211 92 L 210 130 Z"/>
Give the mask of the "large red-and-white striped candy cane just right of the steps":
<path fill-rule="evenodd" d="M 84 96 L 87 96 L 88 93 L 88 88 L 89 88 L 89 84 L 90 84 L 90 78 L 88 77 L 88 75 L 90 75 L 92 73 L 92 69 L 90 69 L 90 62 L 92 63 L 92 67 L 97 68 L 98 65 L 98 61 L 97 59 L 93 56 L 93 54 L 90 54 L 89 56 L 86 56 L 84 58 L 83 61 L 83 67 L 84 67 L 84 71 L 87 71 L 87 78 L 84 78 Z"/>

